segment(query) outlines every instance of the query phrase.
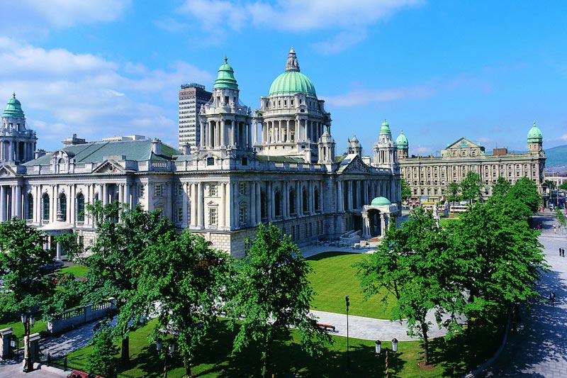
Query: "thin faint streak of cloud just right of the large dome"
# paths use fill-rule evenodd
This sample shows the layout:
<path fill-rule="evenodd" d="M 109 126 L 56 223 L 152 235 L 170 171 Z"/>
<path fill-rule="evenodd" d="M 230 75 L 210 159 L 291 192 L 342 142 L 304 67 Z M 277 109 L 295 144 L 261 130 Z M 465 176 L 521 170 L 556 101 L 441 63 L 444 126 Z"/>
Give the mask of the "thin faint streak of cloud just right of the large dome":
<path fill-rule="evenodd" d="M 400 99 L 424 99 L 433 96 L 430 87 L 417 86 L 409 88 L 368 90 L 354 89 L 338 96 L 322 97 L 331 106 L 361 106 L 374 102 L 395 101 Z"/>

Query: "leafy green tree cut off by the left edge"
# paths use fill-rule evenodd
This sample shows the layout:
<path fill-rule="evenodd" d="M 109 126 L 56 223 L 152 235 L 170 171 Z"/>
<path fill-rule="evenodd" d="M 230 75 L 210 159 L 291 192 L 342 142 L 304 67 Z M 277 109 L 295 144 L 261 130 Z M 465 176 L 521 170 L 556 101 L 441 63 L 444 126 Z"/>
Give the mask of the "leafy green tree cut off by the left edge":
<path fill-rule="evenodd" d="M 53 259 L 46 236 L 12 218 L 0 223 L 0 315 L 30 313 L 47 303 L 54 285 L 44 277 Z"/>

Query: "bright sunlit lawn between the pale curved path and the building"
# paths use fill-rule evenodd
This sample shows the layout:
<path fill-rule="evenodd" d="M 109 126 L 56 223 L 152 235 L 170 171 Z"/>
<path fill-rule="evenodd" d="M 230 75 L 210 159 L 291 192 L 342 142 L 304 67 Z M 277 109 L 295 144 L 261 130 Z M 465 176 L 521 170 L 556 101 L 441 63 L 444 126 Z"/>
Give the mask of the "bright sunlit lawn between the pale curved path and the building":
<path fill-rule="evenodd" d="M 325 252 L 306 260 L 313 267 L 309 275 L 315 296 L 311 308 L 319 311 L 345 313 L 344 296 L 349 296 L 349 314 L 368 318 L 390 319 L 391 309 L 381 301 L 382 296 L 372 296 L 364 301 L 364 294 L 357 278 L 357 262 L 368 258 L 365 253 Z M 388 298 L 393 302 L 393 296 Z"/>

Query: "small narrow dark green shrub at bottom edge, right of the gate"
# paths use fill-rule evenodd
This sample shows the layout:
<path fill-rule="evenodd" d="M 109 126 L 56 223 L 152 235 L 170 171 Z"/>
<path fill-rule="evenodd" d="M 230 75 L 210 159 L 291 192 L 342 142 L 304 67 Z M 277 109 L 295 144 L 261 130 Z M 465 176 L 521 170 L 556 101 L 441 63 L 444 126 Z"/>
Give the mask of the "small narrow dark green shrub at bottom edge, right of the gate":
<path fill-rule="evenodd" d="M 102 377 L 115 377 L 118 361 L 114 356 L 119 350 L 113 343 L 111 329 L 103 326 L 98 330 L 91 340 L 91 345 L 93 349 L 86 359 L 85 370 Z"/>

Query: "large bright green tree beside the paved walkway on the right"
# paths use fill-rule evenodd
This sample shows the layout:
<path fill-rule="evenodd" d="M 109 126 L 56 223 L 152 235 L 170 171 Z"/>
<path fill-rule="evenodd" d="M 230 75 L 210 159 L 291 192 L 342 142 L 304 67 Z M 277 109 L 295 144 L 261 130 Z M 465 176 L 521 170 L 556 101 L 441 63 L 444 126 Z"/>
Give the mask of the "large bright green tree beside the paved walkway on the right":
<path fill-rule="evenodd" d="M 519 207 L 513 201 L 521 200 L 491 197 L 447 227 L 451 279 L 463 294 L 454 311 L 469 320 L 493 321 L 510 304 L 539 296 L 534 284 L 546 269 L 539 233 L 510 211 Z"/>

